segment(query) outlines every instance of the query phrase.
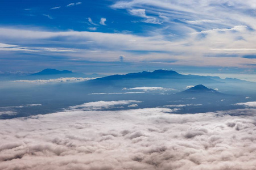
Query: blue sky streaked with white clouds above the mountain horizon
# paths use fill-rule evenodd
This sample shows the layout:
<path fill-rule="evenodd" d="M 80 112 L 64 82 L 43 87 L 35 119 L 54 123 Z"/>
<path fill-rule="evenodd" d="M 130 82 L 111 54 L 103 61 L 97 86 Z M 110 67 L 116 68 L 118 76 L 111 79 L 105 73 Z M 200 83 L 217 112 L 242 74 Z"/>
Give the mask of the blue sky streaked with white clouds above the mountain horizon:
<path fill-rule="evenodd" d="M 0 71 L 254 74 L 255 1 L 3 1 Z"/>

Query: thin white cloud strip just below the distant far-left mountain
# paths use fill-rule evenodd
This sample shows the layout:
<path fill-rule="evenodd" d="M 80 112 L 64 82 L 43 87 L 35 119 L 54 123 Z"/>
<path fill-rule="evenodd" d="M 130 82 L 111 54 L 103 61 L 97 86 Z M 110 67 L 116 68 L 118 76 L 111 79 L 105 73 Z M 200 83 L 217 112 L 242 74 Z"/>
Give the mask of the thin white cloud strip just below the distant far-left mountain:
<path fill-rule="evenodd" d="M 14 80 L 13 82 L 20 83 L 36 83 L 36 84 L 46 84 L 46 83 L 64 83 L 64 82 L 82 82 L 86 80 L 92 80 L 96 78 L 76 78 L 76 77 L 67 77 L 67 78 L 57 78 L 57 79 L 49 79 L 49 80 Z"/>

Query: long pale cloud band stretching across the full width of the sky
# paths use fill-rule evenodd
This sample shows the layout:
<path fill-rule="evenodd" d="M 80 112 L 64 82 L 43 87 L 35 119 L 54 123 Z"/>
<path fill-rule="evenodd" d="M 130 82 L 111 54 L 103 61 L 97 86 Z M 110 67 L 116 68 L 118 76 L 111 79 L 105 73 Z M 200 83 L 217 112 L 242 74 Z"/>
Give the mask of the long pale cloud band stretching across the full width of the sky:
<path fill-rule="evenodd" d="M 241 35 L 242 34 L 242 35 Z M 229 62 L 230 57 L 204 57 L 205 53 L 218 54 L 225 53 L 231 54 L 236 52 L 238 55 L 251 54 L 255 51 L 256 40 L 254 32 L 230 32 L 225 33 L 213 32 L 208 34 L 204 39 L 198 39 L 198 35 L 188 35 L 184 40 L 167 41 L 164 36 L 135 36 L 131 33 L 101 33 L 89 31 L 64 31 L 64 32 L 51 32 L 51 31 L 35 31 L 14 28 L 0 28 L 0 39 L 8 40 L 9 43 L 5 44 L 23 44 L 24 41 L 30 41 L 31 44 L 39 43 L 44 48 L 48 48 L 49 41 L 58 37 L 61 43 L 52 44 L 56 49 L 67 48 L 63 45 L 68 39 L 69 49 L 76 51 L 75 53 L 65 54 L 66 56 L 74 59 L 87 59 L 89 61 L 116 61 L 120 54 L 129 56 L 129 62 L 152 62 L 164 59 L 170 59 L 169 52 L 180 53 L 172 55 L 172 59 L 176 59 L 173 65 L 192 65 L 192 66 L 234 66 L 245 67 L 247 64 L 253 64 L 252 59 L 235 57 L 232 58 L 232 63 Z M 237 36 L 243 36 L 246 41 L 236 41 Z M 88 43 L 92 41 L 93 43 Z M 12 43 L 13 42 L 13 43 Z M 77 44 L 86 43 L 87 48 L 77 48 Z M 185 44 L 185 45 L 184 45 Z M 186 45 L 191 44 L 191 45 Z M 26 44 L 27 45 L 27 44 Z M 102 50 L 95 50 L 95 46 L 101 46 Z M 30 53 L 35 50 L 33 48 L 0 48 L 0 50 L 10 50 L 18 52 L 23 50 Z M 237 50 L 240 49 L 240 50 Z M 148 53 L 137 54 L 129 53 L 129 50 L 145 50 Z M 154 53 L 153 51 L 161 51 L 166 53 Z M 236 51 L 234 51 L 236 50 Z M 35 50 L 43 54 L 47 54 L 46 50 Z M 106 52 L 109 57 L 106 57 Z M 62 54 L 61 54 L 62 55 Z M 195 57 L 195 55 L 197 57 Z M 164 63 L 164 62 L 162 62 Z"/>

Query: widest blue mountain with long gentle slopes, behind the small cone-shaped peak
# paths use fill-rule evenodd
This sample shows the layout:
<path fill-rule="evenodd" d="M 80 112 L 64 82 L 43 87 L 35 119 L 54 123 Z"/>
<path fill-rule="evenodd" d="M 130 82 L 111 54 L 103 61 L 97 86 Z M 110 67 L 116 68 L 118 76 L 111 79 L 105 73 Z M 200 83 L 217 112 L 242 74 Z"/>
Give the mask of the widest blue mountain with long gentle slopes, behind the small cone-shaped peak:
<path fill-rule="evenodd" d="M 172 70 L 143 71 L 125 75 L 110 75 L 102 78 L 82 82 L 88 86 L 115 87 L 118 89 L 132 87 L 166 87 L 184 89 L 191 84 L 218 84 L 217 80 L 200 75 L 183 75 Z"/>

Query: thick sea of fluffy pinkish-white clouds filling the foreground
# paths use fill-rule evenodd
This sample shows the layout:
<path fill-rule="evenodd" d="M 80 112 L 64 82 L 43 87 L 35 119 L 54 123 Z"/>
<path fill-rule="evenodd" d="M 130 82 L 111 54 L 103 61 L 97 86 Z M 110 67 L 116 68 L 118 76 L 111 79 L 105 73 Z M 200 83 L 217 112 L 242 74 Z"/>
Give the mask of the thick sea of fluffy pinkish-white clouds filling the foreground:
<path fill-rule="evenodd" d="M 255 107 L 101 110 L 135 104 L 92 102 L 0 120 L 0 169 L 256 169 Z"/>

